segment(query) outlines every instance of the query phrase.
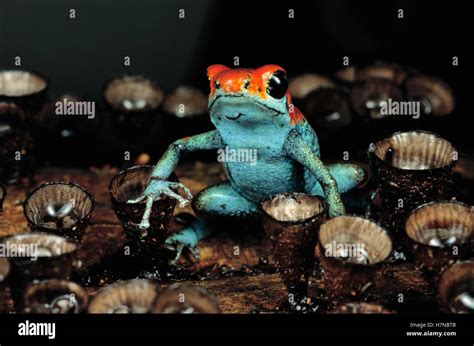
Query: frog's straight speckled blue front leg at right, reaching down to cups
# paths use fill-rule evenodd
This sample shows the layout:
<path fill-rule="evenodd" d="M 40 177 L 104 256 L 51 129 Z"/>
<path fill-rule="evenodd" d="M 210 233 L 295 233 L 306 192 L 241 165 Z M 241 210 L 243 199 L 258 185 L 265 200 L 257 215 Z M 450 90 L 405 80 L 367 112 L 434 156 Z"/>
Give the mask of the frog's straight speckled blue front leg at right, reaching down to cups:
<path fill-rule="evenodd" d="M 288 134 L 283 149 L 286 155 L 307 167 L 321 184 L 328 203 L 329 216 L 343 215 L 345 208 L 341 201 L 336 179 L 318 155 L 304 142 L 298 131 L 291 131 Z"/>

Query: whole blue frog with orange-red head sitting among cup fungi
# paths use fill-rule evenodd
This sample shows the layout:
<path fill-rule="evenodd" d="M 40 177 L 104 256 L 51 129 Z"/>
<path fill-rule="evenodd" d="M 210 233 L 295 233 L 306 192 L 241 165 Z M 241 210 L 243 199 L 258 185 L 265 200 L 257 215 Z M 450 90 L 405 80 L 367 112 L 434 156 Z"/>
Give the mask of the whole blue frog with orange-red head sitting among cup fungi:
<path fill-rule="evenodd" d="M 263 199 L 281 192 L 325 196 L 330 217 L 344 214 L 340 194 L 362 182 L 365 171 L 349 163 L 323 164 L 316 133 L 292 104 L 285 70 L 277 65 L 257 69 L 212 65 L 207 74 L 208 107 L 216 129 L 179 139 L 168 147 L 143 195 L 129 201 L 146 202 L 140 227 L 149 227 L 151 206 L 161 196 L 177 199 L 180 206 L 191 200 L 188 188 L 167 179 L 181 153 L 197 150 L 248 149 L 257 155 L 250 162 L 223 162 L 228 180 L 193 198 L 194 210 L 203 217 L 166 240 L 178 257 L 184 248 L 199 255 L 198 241 L 214 231 L 209 218 L 256 216 Z M 182 188 L 186 197 L 172 188 Z"/>

